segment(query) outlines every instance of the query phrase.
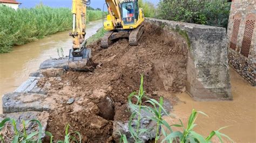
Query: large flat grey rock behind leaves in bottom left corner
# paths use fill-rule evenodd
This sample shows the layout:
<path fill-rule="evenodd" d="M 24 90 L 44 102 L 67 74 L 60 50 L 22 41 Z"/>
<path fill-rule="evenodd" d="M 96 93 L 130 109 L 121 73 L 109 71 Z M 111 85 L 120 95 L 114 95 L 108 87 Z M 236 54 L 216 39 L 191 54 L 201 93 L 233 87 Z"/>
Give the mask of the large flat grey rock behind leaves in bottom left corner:
<path fill-rule="evenodd" d="M 19 131 L 23 130 L 22 121 L 29 121 L 31 119 L 37 119 L 42 124 L 43 133 L 47 127 L 49 113 L 48 112 L 19 112 L 19 113 L 8 113 L 0 115 L 0 121 L 5 118 L 11 118 L 16 121 L 16 127 Z M 26 132 L 30 134 L 31 132 L 38 132 L 38 125 L 37 123 L 30 122 L 26 125 Z M 4 141 L 11 142 L 11 137 L 14 137 L 14 128 L 11 123 L 5 123 L 5 127 L 3 127 L 1 134 L 4 134 Z M 45 134 L 42 134 L 42 138 L 45 137 Z M 37 137 L 36 137 L 37 138 Z"/>

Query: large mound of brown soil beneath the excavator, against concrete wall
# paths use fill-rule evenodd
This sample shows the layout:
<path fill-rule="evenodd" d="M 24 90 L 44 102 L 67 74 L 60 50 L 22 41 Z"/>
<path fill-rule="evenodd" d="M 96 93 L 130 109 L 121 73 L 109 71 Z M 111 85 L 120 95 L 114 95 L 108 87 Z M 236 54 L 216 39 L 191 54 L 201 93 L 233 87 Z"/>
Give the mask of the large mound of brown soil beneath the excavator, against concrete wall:
<path fill-rule="evenodd" d="M 55 101 L 48 125 L 55 139 L 64 139 L 69 123 L 70 131 L 79 131 L 83 142 L 111 141 L 113 120 L 130 117 L 127 97 L 138 90 L 140 74 L 144 75 L 144 90 L 152 98 L 163 92 L 185 91 L 186 41 L 176 33 L 145 24 L 139 43 L 129 46 L 127 39 L 120 39 L 102 49 L 97 41 L 87 46 L 92 49 L 93 61 L 99 63 L 95 71 L 67 71 L 60 78 L 41 79 L 39 84 L 51 84 L 48 96 Z M 71 97 L 75 102 L 67 104 Z"/>

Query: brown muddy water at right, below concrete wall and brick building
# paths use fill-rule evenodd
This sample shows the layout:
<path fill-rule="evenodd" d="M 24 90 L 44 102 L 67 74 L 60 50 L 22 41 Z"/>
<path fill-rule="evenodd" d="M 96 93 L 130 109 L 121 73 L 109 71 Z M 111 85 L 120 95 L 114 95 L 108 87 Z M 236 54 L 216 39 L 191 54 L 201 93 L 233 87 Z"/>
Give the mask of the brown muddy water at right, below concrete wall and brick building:
<path fill-rule="evenodd" d="M 198 117 L 195 128 L 198 133 L 207 135 L 212 130 L 230 126 L 222 132 L 235 142 L 256 142 L 256 87 L 248 84 L 233 69 L 230 76 L 234 101 L 195 102 L 183 93 L 177 95 L 180 102 L 174 106 L 174 114 L 186 122 L 192 109 L 203 111 L 209 117 Z M 173 122 L 172 119 L 169 121 Z"/>

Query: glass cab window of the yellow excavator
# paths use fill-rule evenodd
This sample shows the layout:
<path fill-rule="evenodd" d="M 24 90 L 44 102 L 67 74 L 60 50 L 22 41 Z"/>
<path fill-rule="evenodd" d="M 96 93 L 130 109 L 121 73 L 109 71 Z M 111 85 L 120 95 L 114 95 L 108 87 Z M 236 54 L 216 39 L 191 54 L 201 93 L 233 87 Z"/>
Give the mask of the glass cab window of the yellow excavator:
<path fill-rule="evenodd" d="M 122 18 L 125 25 L 134 24 L 135 15 L 133 2 L 122 3 Z"/>

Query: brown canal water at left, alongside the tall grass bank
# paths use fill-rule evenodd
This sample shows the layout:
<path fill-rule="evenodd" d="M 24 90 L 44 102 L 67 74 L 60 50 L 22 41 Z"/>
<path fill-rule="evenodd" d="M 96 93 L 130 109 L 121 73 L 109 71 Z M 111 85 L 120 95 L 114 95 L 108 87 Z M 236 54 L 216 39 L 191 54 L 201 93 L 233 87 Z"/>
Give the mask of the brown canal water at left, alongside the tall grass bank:
<path fill-rule="evenodd" d="M 87 24 L 86 37 L 95 34 L 102 25 L 102 20 Z M 72 38 L 69 37 L 69 31 L 66 31 L 29 44 L 15 46 L 12 52 L 0 54 L 0 95 L 15 90 L 44 60 L 58 58 L 57 48 L 62 47 L 64 55 L 68 55 L 71 46 Z"/>

